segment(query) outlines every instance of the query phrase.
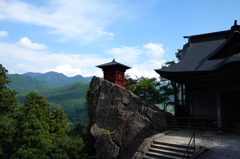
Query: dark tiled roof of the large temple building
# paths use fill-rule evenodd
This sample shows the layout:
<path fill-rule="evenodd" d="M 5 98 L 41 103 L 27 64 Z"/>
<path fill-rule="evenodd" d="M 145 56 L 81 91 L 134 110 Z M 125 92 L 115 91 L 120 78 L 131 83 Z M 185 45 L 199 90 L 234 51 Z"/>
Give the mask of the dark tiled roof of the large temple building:
<path fill-rule="evenodd" d="M 197 41 L 195 40 L 184 45 L 182 58 L 179 63 L 155 71 L 161 75 L 169 73 L 197 73 L 214 71 L 225 64 L 240 62 L 239 31 L 229 30 L 228 32 L 219 32 L 219 34 L 210 33 L 210 39 L 207 37 L 208 34 L 204 35 L 205 37 L 203 35 L 195 36 L 198 38 Z M 218 36 L 218 38 L 214 38 L 213 35 Z M 205 41 L 199 40 L 199 37 L 202 37 Z"/>

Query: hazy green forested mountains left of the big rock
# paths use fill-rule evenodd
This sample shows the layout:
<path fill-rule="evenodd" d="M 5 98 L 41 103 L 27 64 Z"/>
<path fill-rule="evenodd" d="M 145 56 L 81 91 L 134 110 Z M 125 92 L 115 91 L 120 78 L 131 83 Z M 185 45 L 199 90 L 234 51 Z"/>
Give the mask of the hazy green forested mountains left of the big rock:
<path fill-rule="evenodd" d="M 51 110 L 61 107 L 68 115 L 70 123 L 88 121 L 85 97 L 92 77 L 67 77 L 57 72 L 29 72 L 8 76 L 12 82 L 7 86 L 18 92 L 20 105 L 24 103 L 25 95 L 34 91 L 45 97 Z"/>

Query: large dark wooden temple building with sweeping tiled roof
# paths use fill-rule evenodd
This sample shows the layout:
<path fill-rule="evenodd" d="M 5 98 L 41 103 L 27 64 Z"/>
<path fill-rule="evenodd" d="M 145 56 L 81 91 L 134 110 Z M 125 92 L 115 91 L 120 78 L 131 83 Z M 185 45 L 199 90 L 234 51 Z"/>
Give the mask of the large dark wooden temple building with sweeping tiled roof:
<path fill-rule="evenodd" d="M 178 121 L 216 123 L 234 132 L 240 123 L 240 26 L 185 36 L 181 60 L 155 70 L 171 80 Z"/>

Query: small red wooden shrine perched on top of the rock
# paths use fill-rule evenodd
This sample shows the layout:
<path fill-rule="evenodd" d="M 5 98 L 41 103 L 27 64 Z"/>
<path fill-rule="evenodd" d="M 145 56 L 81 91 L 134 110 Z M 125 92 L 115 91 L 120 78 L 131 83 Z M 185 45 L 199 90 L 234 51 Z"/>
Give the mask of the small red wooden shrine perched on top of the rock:
<path fill-rule="evenodd" d="M 112 62 L 96 66 L 103 70 L 103 78 L 108 80 L 116 85 L 124 86 L 124 74 L 127 69 L 130 67 L 118 63 L 113 59 Z"/>

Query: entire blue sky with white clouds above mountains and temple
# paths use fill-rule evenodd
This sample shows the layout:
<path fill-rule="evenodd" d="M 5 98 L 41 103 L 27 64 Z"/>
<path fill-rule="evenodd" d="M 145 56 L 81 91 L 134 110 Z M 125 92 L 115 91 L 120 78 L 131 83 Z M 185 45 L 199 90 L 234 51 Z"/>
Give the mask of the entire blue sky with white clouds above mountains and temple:
<path fill-rule="evenodd" d="M 113 58 L 158 77 L 183 36 L 228 30 L 239 0 L 0 0 L 0 63 L 9 73 L 102 76 Z"/>

